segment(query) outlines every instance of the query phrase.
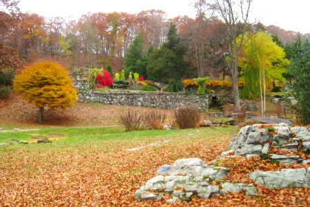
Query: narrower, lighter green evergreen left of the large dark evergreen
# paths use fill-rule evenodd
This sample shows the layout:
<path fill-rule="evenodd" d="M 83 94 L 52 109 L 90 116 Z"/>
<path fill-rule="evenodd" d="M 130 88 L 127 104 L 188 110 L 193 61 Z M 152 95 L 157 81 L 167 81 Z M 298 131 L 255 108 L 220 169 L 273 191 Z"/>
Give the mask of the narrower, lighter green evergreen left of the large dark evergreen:
<path fill-rule="evenodd" d="M 137 34 L 137 37 L 130 44 L 124 57 L 124 66 L 126 74 L 129 72 L 137 72 L 140 75 L 146 76 L 146 55 L 144 55 L 144 39 L 142 34 Z"/>

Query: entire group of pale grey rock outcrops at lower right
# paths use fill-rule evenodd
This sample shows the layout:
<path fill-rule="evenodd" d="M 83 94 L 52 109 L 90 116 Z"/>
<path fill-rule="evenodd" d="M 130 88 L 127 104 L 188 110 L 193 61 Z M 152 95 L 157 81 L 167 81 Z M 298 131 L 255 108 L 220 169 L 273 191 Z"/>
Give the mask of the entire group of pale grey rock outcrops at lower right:
<path fill-rule="evenodd" d="M 271 145 L 282 150 L 301 150 L 310 152 L 310 132 L 305 127 L 291 127 L 287 124 L 266 126 L 254 124 L 241 128 L 238 135 L 231 141 L 230 149 L 223 152 L 220 159 L 225 157 L 268 155 L 269 159 L 282 164 L 307 164 L 298 155 L 268 154 Z M 253 184 L 214 182 L 229 175 L 229 168 L 207 166 L 197 158 L 179 159 L 173 166 L 164 165 L 157 170 L 157 176 L 148 180 L 144 186 L 135 192 L 135 198 L 162 199 L 164 193 L 170 193 L 173 201 L 191 201 L 196 196 L 208 199 L 213 195 L 227 192 L 245 192 L 247 196 L 257 195 Z M 255 184 L 267 188 L 307 188 L 310 186 L 310 168 L 282 169 L 278 171 L 254 171 L 249 174 Z"/>

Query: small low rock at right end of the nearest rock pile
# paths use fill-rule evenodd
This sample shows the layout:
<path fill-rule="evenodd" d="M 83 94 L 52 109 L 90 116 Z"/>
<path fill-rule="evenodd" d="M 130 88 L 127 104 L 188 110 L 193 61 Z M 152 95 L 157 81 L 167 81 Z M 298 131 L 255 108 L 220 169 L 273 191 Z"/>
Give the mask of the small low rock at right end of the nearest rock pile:
<path fill-rule="evenodd" d="M 240 193 L 242 190 L 245 190 L 245 195 L 247 196 L 253 196 L 258 194 L 253 184 L 246 185 L 246 184 L 232 184 L 229 182 L 224 182 L 223 184 L 221 184 L 221 186 L 222 186 L 222 189 L 220 190 L 221 194 L 225 194 L 227 192 Z"/>

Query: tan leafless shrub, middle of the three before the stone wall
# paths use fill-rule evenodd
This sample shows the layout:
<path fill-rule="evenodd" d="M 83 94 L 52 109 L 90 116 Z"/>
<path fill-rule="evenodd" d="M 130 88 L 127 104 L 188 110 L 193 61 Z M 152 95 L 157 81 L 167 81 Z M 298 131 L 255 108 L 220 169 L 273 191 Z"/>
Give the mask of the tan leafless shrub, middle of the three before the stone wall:
<path fill-rule="evenodd" d="M 150 129 L 157 129 L 161 130 L 163 129 L 163 124 L 166 121 L 166 115 L 164 112 L 159 112 L 159 111 L 148 111 L 144 115 L 144 123 L 148 128 Z"/>

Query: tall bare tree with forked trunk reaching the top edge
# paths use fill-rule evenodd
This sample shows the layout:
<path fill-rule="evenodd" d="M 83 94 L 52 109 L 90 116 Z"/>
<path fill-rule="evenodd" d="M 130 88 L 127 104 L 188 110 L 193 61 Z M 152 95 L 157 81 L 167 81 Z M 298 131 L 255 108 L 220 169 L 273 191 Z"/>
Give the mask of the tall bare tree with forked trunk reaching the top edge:
<path fill-rule="evenodd" d="M 201 0 L 204 1 L 204 0 Z M 223 19 L 226 26 L 226 45 L 229 58 L 226 59 L 233 79 L 233 100 L 235 109 L 241 110 L 238 90 L 238 59 L 246 39 L 244 34 L 250 29 L 249 14 L 252 0 L 211 0 L 209 8 Z M 238 36 L 241 35 L 239 43 Z"/>

